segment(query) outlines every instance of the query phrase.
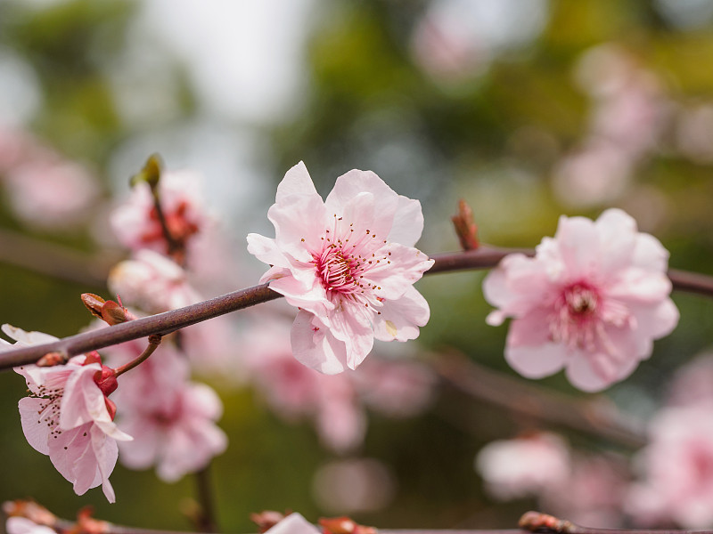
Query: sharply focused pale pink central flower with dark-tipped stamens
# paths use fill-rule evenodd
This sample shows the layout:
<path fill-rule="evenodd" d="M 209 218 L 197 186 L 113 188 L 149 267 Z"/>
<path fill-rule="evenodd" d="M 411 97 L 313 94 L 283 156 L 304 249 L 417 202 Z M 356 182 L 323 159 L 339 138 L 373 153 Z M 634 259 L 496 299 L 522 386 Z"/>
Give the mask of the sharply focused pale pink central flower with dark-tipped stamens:
<path fill-rule="evenodd" d="M 325 374 L 354 369 L 373 339 L 414 339 L 429 307 L 413 284 L 433 264 L 414 248 L 421 204 L 369 171 L 343 174 L 325 201 L 303 163 L 277 187 L 267 213 L 275 239 L 248 236 L 248 251 L 273 265 L 261 281 L 299 308 L 292 352 Z"/>

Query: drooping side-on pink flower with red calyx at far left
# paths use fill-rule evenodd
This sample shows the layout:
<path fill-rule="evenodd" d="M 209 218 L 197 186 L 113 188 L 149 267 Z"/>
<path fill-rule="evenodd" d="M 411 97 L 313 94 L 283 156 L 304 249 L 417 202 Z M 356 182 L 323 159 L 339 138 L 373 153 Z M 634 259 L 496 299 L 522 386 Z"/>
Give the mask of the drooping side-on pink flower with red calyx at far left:
<path fill-rule="evenodd" d="M 57 338 L 4 325 L 18 344 L 37 344 Z M 66 365 L 15 368 L 25 377 L 29 396 L 20 399 L 22 431 L 29 444 L 50 457 L 54 467 L 74 485 L 78 495 L 102 485 L 115 501 L 109 475 L 119 454 L 117 441 L 132 438 L 114 425 L 116 407 L 107 395 L 116 389 L 111 369 L 97 356 L 75 356 Z"/>

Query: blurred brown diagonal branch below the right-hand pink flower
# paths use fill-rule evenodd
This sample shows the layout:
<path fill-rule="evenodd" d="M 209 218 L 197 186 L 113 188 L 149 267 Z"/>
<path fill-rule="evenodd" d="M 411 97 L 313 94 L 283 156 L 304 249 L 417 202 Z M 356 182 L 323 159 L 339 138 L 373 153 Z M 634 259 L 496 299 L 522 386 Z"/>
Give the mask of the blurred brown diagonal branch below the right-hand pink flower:
<path fill-rule="evenodd" d="M 623 415 L 603 397 L 579 399 L 479 366 L 459 354 L 434 360 L 438 374 L 458 391 L 524 417 L 588 433 L 638 449 L 643 422 Z"/>

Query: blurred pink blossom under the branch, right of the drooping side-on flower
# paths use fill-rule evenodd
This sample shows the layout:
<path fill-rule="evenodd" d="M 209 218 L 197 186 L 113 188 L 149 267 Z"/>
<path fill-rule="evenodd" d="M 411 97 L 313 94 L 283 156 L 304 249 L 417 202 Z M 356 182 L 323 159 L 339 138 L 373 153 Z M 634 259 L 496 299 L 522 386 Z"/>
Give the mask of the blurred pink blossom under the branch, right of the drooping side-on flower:
<path fill-rule="evenodd" d="M 116 365 L 142 351 L 139 342 L 106 350 Z M 123 465 L 155 465 L 160 479 L 172 482 L 225 451 L 227 438 L 215 424 L 223 406 L 209 386 L 189 382 L 188 376 L 188 361 L 170 344 L 161 344 L 138 368 L 119 376 L 118 399 L 125 408 L 119 426 L 135 436 L 120 444 Z"/>

